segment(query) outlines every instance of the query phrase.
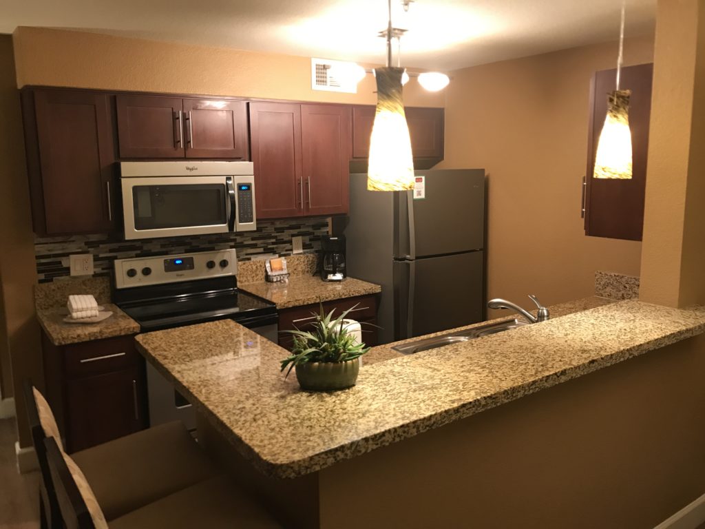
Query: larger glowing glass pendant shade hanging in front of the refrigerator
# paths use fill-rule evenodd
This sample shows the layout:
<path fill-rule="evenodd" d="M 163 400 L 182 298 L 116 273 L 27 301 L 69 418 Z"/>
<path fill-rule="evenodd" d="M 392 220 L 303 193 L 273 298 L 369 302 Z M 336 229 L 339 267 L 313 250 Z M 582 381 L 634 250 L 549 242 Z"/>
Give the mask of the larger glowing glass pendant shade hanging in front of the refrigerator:
<path fill-rule="evenodd" d="M 377 109 L 369 139 L 367 189 L 414 188 L 414 162 L 404 114 L 401 78 L 404 68 L 376 68 Z"/>

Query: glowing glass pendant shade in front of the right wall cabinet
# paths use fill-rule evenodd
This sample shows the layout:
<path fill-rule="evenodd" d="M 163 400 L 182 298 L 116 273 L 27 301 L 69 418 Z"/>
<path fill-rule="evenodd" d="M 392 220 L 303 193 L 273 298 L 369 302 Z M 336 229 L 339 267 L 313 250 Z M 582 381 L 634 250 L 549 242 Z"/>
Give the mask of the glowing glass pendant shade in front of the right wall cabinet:
<path fill-rule="evenodd" d="M 630 95 L 631 90 L 616 90 L 608 96 L 607 116 L 597 142 L 593 178 L 632 178 Z"/>

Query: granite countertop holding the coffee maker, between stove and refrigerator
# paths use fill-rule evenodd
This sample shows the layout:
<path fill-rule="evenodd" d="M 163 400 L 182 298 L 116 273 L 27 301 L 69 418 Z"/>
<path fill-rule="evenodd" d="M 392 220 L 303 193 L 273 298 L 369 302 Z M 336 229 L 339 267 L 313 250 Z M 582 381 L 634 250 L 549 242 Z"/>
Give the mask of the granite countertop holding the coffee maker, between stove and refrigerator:
<path fill-rule="evenodd" d="M 381 292 L 379 285 L 367 283 L 353 277 L 343 281 L 323 281 L 319 276 L 290 276 L 286 283 L 241 283 L 239 288 L 260 298 L 276 303 L 276 308 L 300 307 L 343 298 L 354 298 Z"/>

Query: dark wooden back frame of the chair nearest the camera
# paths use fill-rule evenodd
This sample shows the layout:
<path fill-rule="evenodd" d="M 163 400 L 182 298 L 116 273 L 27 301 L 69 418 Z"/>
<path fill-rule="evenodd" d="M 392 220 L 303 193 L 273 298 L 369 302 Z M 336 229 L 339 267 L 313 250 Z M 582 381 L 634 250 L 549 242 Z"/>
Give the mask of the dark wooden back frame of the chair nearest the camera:
<path fill-rule="evenodd" d="M 66 529 L 95 529 L 88 507 L 54 437 L 46 437 L 44 446 L 64 526 Z"/>

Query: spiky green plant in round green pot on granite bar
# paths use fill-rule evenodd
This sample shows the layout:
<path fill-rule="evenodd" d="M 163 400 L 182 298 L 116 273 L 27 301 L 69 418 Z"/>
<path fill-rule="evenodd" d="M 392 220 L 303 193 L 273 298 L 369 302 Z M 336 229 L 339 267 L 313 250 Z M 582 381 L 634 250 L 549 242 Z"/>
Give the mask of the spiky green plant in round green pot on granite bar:
<path fill-rule="evenodd" d="M 364 343 L 357 343 L 355 336 L 345 329 L 345 316 L 354 307 L 333 319 L 331 310 L 314 314 L 316 319 L 308 331 L 285 331 L 293 335 L 291 355 L 281 360 L 281 370 L 289 376 L 295 370 L 301 389 L 331 391 L 355 385 L 360 372 L 360 356 L 369 351 Z"/>

